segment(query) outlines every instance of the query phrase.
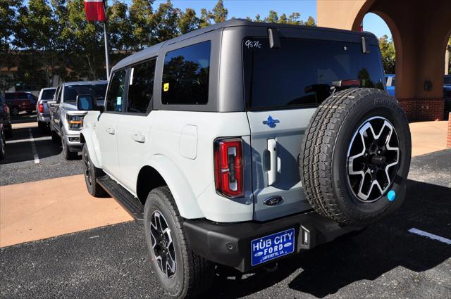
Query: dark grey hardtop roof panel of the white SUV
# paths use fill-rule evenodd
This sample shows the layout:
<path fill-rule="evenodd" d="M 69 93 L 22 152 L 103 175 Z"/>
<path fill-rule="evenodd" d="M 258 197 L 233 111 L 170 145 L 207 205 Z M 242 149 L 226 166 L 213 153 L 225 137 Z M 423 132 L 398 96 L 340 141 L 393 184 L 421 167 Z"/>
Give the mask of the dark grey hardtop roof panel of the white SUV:
<path fill-rule="evenodd" d="M 114 67 L 112 68 L 112 71 L 118 70 L 120 68 L 124 68 L 124 67 L 126 67 L 128 65 L 132 65 L 134 63 L 138 63 L 147 58 L 155 57 L 158 55 L 159 50 L 166 44 L 174 44 L 176 42 L 181 42 L 185 39 L 197 37 L 206 32 L 211 32 L 214 30 L 221 30 L 223 28 L 228 28 L 228 27 L 238 27 L 238 26 L 241 26 L 241 27 L 245 27 L 245 26 L 267 27 L 267 28 L 296 28 L 296 29 L 302 28 L 303 30 L 316 30 L 319 32 L 341 32 L 341 33 L 347 33 L 347 34 L 359 34 L 360 36 L 376 38 L 376 36 L 374 34 L 372 34 L 371 32 L 357 32 L 357 31 L 341 30 L 341 29 L 328 28 L 328 27 L 289 25 L 289 24 L 279 24 L 279 23 L 264 23 L 264 22 L 252 22 L 252 21 L 245 20 L 245 19 L 231 19 L 231 20 L 226 20 L 225 22 L 222 22 L 222 23 L 217 23 L 214 25 L 210 25 L 208 27 L 193 30 L 192 32 L 182 34 L 179 37 L 174 37 L 173 39 L 168 39 L 165 42 L 155 44 L 153 46 L 150 46 L 147 49 L 133 53 L 132 55 L 125 57 L 121 61 L 116 63 L 116 65 L 114 65 Z"/>

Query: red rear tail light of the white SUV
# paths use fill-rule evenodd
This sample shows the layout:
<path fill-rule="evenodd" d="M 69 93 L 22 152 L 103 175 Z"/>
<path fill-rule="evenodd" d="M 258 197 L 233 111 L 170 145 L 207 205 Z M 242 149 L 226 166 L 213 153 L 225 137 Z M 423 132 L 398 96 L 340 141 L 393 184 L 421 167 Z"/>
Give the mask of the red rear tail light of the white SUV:
<path fill-rule="evenodd" d="M 214 179 L 216 191 L 223 196 L 244 196 L 241 139 L 221 139 L 215 142 Z"/>

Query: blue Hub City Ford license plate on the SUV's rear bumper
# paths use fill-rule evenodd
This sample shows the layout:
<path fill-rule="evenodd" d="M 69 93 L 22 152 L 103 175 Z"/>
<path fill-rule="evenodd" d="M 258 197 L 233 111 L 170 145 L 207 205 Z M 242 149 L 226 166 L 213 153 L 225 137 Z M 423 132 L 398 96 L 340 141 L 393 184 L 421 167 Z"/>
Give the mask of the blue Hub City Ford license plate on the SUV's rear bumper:
<path fill-rule="evenodd" d="M 295 229 L 256 238 L 251 242 L 252 266 L 274 260 L 295 251 Z"/>

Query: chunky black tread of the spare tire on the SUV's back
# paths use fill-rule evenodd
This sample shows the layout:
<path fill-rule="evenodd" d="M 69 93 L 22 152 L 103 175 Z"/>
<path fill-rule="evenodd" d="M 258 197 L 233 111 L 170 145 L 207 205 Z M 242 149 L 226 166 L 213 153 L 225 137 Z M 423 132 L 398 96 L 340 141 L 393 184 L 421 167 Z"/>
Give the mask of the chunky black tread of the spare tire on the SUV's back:
<path fill-rule="evenodd" d="M 321 103 L 311 117 L 304 141 L 301 145 L 299 173 L 302 178 L 307 201 L 316 212 L 339 224 L 356 224 L 338 207 L 333 191 L 334 145 L 343 122 L 347 119 L 356 101 L 365 101 L 369 96 L 383 94 L 396 101 L 380 89 L 345 89 L 336 92 Z M 405 118 L 407 123 L 407 118 Z"/>

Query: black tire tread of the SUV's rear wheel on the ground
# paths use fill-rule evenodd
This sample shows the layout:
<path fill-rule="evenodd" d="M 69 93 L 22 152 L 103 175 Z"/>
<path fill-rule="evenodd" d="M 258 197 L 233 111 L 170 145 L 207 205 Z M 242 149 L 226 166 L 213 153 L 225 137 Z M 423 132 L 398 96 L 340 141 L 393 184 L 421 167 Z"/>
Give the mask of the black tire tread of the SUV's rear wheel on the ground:
<path fill-rule="evenodd" d="M 177 205 L 173 199 L 172 193 L 168 186 L 161 186 L 153 189 L 154 193 L 160 198 L 164 198 L 168 203 L 168 208 L 171 209 L 175 215 L 174 222 L 177 227 L 177 233 L 180 237 L 180 249 L 184 260 L 187 260 L 187 267 L 184 269 L 183 277 L 187 279 L 187 291 L 185 295 L 182 294 L 180 298 L 195 298 L 209 289 L 214 279 L 214 264 L 209 260 L 204 259 L 200 255 L 194 253 L 187 243 L 187 238 L 183 230 L 183 217 L 178 212 Z"/>

